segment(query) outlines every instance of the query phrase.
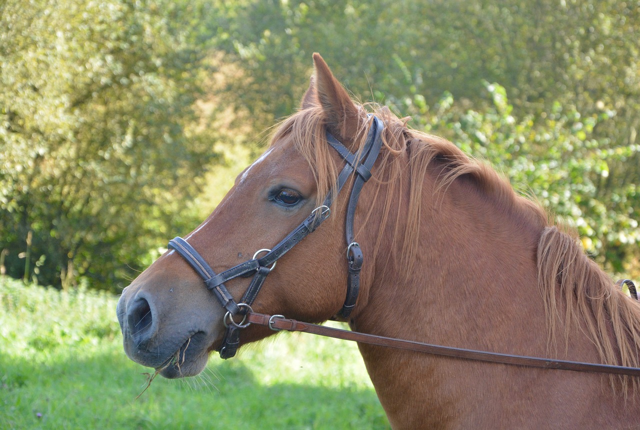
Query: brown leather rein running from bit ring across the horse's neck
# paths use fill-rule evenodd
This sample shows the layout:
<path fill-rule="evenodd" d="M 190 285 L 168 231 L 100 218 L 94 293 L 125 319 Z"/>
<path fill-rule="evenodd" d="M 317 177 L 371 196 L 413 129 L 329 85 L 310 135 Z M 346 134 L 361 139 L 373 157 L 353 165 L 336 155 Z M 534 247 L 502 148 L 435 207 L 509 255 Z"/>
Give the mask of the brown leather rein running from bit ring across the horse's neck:
<path fill-rule="evenodd" d="M 245 321 L 243 320 L 243 323 L 244 322 Z M 248 314 L 246 314 L 246 324 L 243 326 L 247 326 L 248 324 L 266 326 L 274 331 L 302 331 L 303 333 L 312 333 L 314 335 L 333 337 L 343 340 L 353 340 L 353 342 L 362 342 L 364 344 L 406 349 L 408 351 L 444 355 L 454 358 L 464 358 L 466 360 L 540 367 L 542 369 L 575 370 L 577 372 L 607 373 L 640 377 L 640 368 L 637 367 L 553 360 L 550 358 L 490 353 L 488 351 L 476 351 L 474 349 L 426 344 L 424 342 L 416 342 L 414 340 L 383 337 L 367 333 L 359 333 L 357 331 L 340 330 L 339 328 L 320 326 L 318 324 L 303 323 L 301 321 L 296 321 L 295 319 L 287 319 L 283 315 L 265 315 L 248 312 Z"/>

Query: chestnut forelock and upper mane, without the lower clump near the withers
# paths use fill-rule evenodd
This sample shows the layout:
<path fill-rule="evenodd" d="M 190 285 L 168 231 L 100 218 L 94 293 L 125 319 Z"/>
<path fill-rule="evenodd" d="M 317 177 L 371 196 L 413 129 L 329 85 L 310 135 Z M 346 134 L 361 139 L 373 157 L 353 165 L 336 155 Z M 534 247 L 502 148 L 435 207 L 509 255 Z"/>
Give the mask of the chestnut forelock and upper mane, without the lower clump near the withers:
<path fill-rule="evenodd" d="M 515 211 L 516 214 L 528 222 L 536 225 L 546 225 L 548 216 L 540 205 L 527 198 L 516 195 L 513 187 L 499 173 L 486 163 L 481 163 L 470 158 L 450 141 L 417 131 L 408 127 L 410 117 L 397 118 L 386 106 L 371 104 L 373 114 L 378 116 L 385 124 L 383 132 L 383 150 L 380 152 L 377 166 L 378 173 L 374 172 L 370 182 L 375 182 L 378 187 L 376 200 L 382 186 L 389 187 L 387 199 L 383 207 L 381 224 L 393 222 L 395 233 L 391 255 L 392 264 L 396 267 L 404 267 L 406 273 L 411 273 L 416 261 L 415 250 L 418 248 L 420 236 L 420 214 L 422 212 L 422 194 L 425 178 L 429 166 L 434 163 L 442 164 L 442 169 L 437 179 L 436 191 L 445 192 L 447 187 L 460 177 L 470 177 L 486 195 L 492 200 Z M 364 147 L 367 137 L 365 132 L 371 125 L 371 118 L 365 115 L 365 106 L 358 105 L 362 115 L 356 133 L 358 141 L 351 143 L 351 150 L 359 152 Z M 342 165 L 335 164 L 332 159 L 333 149 L 326 142 L 326 119 L 323 108 L 319 106 L 301 109 L 293 115 L 285 118 L 275 128 L 271 138 L 271 145 L 285 136 L 291 136 L 296 150 L 307 160 L 312 175 L 317 184 L 316 206 L 322 204 L 324 197 L 335 193 L 335 184 Z M 402 155 L 408 159 L 410 175 L 405 178 L 406 163 L 401 160 Z M 407 206 L 403 211 L 403 217 L 397 216 L 397 199 L 395 196 L 404 193 L 408 180 L 410 189 Z M 333 195 L 335 201 L 335 195 Z M 377 211 L 378 209 L 376 209 Z M 373 208 L 370 208 L 373 211 Z M 395 219 L 391 219 L 396 214 Z M 368 219 L 367 216 L 365 219 Z M 365 223 L 363 223 L 365 224 Z M 360 226 L 362 228 L 362 226 Z M 381 246 L 381 238 L 374 249 Z"/>

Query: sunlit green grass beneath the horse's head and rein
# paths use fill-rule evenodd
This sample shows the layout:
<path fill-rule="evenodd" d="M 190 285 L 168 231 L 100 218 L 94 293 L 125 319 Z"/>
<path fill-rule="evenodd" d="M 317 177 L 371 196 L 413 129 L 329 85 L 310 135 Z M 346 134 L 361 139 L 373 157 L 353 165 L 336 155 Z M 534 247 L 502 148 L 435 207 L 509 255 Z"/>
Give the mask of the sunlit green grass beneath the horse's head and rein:
<path fill-rule="evenodd" d="M 387 429 L 355 344 L 282 333 L 146 384 L 116 298 L 0 276 L 0 429 Z"/>

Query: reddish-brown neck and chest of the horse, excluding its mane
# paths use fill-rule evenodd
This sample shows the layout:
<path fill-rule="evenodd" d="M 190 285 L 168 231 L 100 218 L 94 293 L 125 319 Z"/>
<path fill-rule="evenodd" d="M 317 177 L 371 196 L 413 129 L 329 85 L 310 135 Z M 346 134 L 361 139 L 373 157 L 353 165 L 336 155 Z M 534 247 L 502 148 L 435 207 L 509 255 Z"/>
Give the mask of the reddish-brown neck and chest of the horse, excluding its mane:
<path fill-rule="evenodd" d="M 382 246 L 369 246 L 376 250 L 374 264 L 365 252 L 365 267 L 373 268 L 363 275 L 364 291 L 352 328 L 445 346 L 598 362 L 596 348 L 581 327 L 561 323 L 568 333 L 566 349 L 554 349 L 550 342 L 536 255 L 547 224 L 543 212 L 516 198 L 506 184 L 500 193 L 460 177 L 438 189 L 434 178 L 438 172 L 432 171 L 422 189 L 411 268 L 392 262 L 402 251 L 403 244 L 394 246 L 394 238 L 407 224 L 410 211 L 402 200 L 410 191 L 391 190 L 400 201 L 387 218 L 396 216 L 397 223 L 382 222 L 382 197 L 390 190 L 377 193 L 377 198 L 369 191 L 363 196 L 365 207 L 373 209 L 363 229 L 369 236 L 362 243 Z M 404 182 L 409 187 L 408 180 Z M 584 417 L 589 417 L 585 422 L 593 421 L 591 427 L 602 428 L 602 422 L 628 413 L 620 406 L 624 402 L 603 394 L 607 380 L 600 376 L 524 372 L 493 363 L 359 347 L 389 420 L 399 428 L 543 427 L 554 420 Z M 514 399 L 523 392 L 529 393 L 531 408 L 516 415 L 500 408 L 520 408 L 522 403 Z M 572 404 L 570 418 L 566 408 L 556 408 L 567 402 Z M 483 408 L 478 415 L 474 405 L 479 403 L 496 407 Z"/>

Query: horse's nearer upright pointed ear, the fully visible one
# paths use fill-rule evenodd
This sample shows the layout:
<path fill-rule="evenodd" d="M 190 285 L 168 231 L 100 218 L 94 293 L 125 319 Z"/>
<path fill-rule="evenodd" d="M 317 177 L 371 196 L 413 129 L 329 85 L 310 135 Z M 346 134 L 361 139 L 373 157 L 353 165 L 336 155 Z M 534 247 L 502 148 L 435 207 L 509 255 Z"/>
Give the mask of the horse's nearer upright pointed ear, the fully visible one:
<path fill-rule="evenodd" d="M 329 131 L 344 143 L 352 143 L 358 131 L 359 111 L 323 58 L 314 53 L 316 95 L 324 108 Z"/>

